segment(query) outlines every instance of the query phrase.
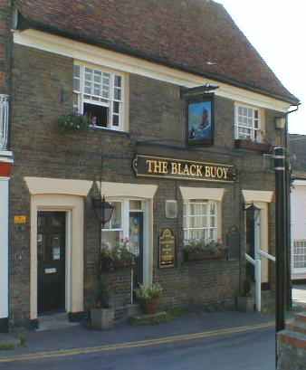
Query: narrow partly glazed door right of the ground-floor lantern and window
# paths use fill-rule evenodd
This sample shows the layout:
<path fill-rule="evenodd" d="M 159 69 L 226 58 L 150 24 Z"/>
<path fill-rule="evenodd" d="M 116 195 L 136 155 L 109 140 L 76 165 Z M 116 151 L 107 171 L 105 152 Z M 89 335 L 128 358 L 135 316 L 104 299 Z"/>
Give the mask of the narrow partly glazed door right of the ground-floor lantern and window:
<path fill-rule="evenodd" d="M 129 242 L 131 250 L 136 255 L 134 268 L 134 288 L 143 284 L 143 213 L 129 213 Z"/>

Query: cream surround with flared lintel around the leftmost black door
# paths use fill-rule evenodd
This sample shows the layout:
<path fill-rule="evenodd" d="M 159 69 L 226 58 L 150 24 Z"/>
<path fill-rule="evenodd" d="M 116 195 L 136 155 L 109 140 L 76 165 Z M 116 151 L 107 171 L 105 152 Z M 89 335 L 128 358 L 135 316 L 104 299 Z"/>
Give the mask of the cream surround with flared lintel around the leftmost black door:
<path fill-rule="evenodd" d="M 83 311 L 84 198 L 91 181 L 24 177 L 31 194 L 30 319 L 37 320 L 37 212 L 66 213 L 66 312 Z"/>

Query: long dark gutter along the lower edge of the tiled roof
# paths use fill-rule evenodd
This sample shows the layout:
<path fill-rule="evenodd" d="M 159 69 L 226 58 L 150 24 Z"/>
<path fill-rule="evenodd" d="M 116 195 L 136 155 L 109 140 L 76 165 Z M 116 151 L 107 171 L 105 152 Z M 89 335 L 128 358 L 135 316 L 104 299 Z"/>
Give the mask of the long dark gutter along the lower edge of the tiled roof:
<path fill-rule="evenodd" d="M 206 78 L 206 79 L 211 79 L 211 80 L 223 82 L 223 83 L 232 85 L 232 86 L 237 87 L 237 88 L 241 88 L 241 89 L 244 89 L 244 90 L 249 90 L 249 91 L 252 91 L 252 92 L 257 92 L 257 93 L 260 93 L 262 95 L 268 96 L 270 98 L 290 103 L 292 105 L 300 104 L 300 100 L 296 99 L 293 96 L 288 97 L 288 96 L 278 95 L 278 94 L 275 94 L 271 91 L 265 90 L 263 88 L 257 88 L 256 86 L 250 86 L 250 85 L 247 85 L 243 82 L 236 81 L 232 78 L 227 78 L 227 77 L 221 76 L 217 73 L 199 72 L 199 71 L 196 71 L 193 68 L 188 68 L 188 67 L 179 65 L 177 63 L 174 63 L 174 62 L 168 62 L 167 60 L 163 60 L 163 59 L 158 58 L 158 57 L 150 56 L 150 55 L 148 55 L 144 52 L 135 51 L 135 50 L 131 49 L 128 45 L 120 45 L 119 46 L 119 45 L 116 45 L 114 43 L 109 43 L 109 42 L 106 42 L 106 41 L 94 40 L 91 37 L 82 35 L 81 33 L 70 33 L 68 31 L 62 31 L 61 29 L 59 29 L 57 27 L 53 27 L 53 26 L 50 26 L 48 24 L 43 24 L 43 23 L 40 23 L 40 22 L 33 21 L 32 19 L 26 18 L 26 17 L 24 17 L 23 14 L 21 14 L 16 9 L 14 11 L 13 30 L 18 30 L 18 31 L 23 32 L 23 31 L 28 30 L 28 29 L 41 31 L 41 32 L 44 32 L 44 33 L 52 33 L 56 36 L 65 37 L 65 38 L 68 38 L 68 39 L 71 39 L 73 41 L 77 41 L 77 42 L 80 42 L 80 43 L 87 43 L 87 44 L 90 44 L 92 46 L 98 46 L 98 47 L 101 47 L 101 48 L 104 48 L 104 49 L 108 49 L 112 52 L 120 52 L 120 53 L 128 54 L 129 56 L 140 58 L 140 59 L 143 59 L 147 62 L 155 62 L 155 63 L 158 63 L 160 65 L 164 65 L 166 67 L 173 68 L 173 69 L 180 70 L 180 71 L 185 71 L 187 73 L 192 73 L 192 74 L 195 74 L 197 76 L 201 76 L 201 77 Z"/>

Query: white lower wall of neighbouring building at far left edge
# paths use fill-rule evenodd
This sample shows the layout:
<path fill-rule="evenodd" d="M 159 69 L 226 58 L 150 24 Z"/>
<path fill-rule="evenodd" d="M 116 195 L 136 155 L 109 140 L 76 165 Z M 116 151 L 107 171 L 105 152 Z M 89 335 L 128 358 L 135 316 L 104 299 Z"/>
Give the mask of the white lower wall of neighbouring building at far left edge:
<path fill-rule="evenodd" d="M 8 317 L 8 183 L 0 177 L 0 318 Z"/>

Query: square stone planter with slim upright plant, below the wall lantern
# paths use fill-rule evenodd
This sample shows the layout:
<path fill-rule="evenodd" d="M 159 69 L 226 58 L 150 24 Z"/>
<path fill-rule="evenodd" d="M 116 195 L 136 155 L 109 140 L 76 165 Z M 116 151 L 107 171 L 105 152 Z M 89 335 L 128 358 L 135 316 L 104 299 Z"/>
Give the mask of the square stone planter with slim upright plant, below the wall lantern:
<path fill-rule="evenodd" d="M 110 307 L 110 290 L 102 277 L 97 282 L 95 307 L 91 308 L 91 327 L 105 330 L 113 327 L 115 310 Z"/>

